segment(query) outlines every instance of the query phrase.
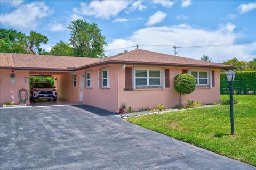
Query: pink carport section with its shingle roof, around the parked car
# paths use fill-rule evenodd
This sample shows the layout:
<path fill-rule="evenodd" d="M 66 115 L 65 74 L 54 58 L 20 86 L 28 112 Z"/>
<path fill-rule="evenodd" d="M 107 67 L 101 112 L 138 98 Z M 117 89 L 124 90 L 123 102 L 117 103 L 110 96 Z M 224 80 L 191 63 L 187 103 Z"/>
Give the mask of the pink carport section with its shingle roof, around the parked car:
<path fill-rule="evenodd" d="M 20 90 L 23 90 L 23 96 L 27 99 L 26 93 L 29 94 L 30 91 L 29 77 L 33 75 L 54 77 L 58 94 L 55 104 L 81 104 L 84 101 L 84 72 L 76 71 L 76 68 L 98 60 L 86 57 L 0 53 L 0 104 L 12 102 L 15 98 L 15 104 L 53 105 L 54 103 L 47 102 L 33 104 L 29 97 L 28 100 L 19 99 Z"/>

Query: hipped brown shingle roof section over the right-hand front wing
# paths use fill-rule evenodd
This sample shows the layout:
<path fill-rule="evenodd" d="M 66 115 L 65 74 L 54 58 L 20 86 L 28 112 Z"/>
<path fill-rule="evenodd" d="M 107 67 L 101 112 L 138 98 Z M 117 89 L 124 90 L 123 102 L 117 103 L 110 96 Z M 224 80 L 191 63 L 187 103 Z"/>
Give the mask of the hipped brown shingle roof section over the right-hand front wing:
<path fill-rule="evenodd" d="M 171 65 L 171 66 L 191 66 L 191 67 L 213 67 L 222 69 L 234 68 L 230 65 L 224 65 L 213 62 L 205 62 L 186 57 L 173 56 L 169 54 L 150 52 L 142 49 L 135 49 L 127 53 L 118 54 L 105 58 L 103 60 L 91 63 L 87 66 L 99 65 L 103 63 L 123 63 L 123 64 L 154 64 L 154 65 Z M 82 69 L 78 68 L 78 69 Z"/>

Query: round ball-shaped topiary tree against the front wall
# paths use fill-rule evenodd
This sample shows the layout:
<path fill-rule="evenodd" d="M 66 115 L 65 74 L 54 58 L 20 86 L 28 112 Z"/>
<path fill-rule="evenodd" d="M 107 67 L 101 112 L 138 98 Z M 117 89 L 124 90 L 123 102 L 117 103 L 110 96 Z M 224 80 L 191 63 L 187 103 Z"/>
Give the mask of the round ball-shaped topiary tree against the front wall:
<path fill-rule="evenodd" d="M 181 95 L 191 94 L 195 90 L 196 79 L 190 74 L 178 74 L 174 80 L 174 88 L 180 94 L 179 106 L 181 106 Z"/>

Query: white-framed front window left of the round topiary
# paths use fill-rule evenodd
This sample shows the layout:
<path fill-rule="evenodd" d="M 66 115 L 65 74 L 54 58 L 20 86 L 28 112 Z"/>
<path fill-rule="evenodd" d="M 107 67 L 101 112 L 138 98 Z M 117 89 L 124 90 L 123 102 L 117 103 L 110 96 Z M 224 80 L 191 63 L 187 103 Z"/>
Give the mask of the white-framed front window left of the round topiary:
<path fill-rule="evenodd" d="M 135 70 L 136 86 L 161 86 L 161 70 Z"/>

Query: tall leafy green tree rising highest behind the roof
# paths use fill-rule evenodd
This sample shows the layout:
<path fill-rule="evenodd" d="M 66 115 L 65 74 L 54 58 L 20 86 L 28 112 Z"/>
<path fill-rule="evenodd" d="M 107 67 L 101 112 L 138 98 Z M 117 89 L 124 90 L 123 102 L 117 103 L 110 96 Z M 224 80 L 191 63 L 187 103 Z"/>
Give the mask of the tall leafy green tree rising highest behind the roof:
<path fill-rule="evenodd" d="M 69 40 L 75 56 L 93 58 L 105 56 L 106 37 L 101 35 L 96 23 L 89 24 L 85 20 L 75 20 L 71 21 L 67 28 L 70 29 Z"/>

